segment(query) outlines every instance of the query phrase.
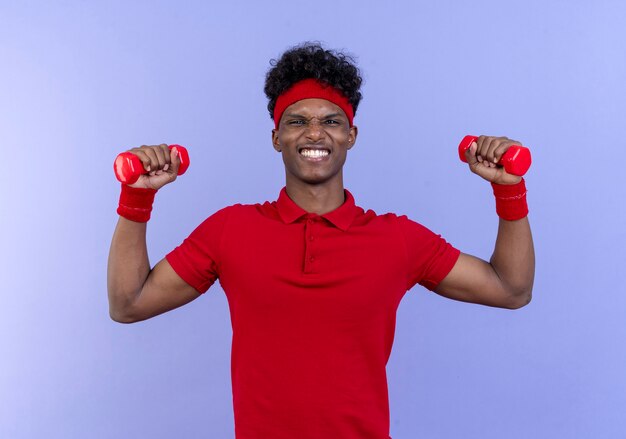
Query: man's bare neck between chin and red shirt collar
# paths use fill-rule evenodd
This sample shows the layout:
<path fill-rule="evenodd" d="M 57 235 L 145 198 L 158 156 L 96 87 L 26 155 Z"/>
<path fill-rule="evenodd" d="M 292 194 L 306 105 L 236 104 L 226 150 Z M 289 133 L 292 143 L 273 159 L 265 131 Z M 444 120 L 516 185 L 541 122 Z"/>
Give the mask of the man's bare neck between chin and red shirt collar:
<path fill-rule="evenodd" d="M 343 181 L 333 184 L 311 185 L 287 179 L 287 195 L 309 213 L 324 215 L 341 206 L 345 201 Z"/>

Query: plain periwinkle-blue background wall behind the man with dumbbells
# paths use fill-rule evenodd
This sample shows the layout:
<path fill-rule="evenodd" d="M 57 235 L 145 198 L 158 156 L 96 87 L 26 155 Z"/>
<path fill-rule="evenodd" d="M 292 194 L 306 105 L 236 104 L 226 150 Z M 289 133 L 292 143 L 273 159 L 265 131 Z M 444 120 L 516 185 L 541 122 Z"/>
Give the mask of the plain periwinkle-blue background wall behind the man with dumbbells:
<path fill-rule="evenodd" d="M 505 135 L 533 151 L 533 302 L 408 293 L 388 364 L 394 439 L 624 437 L 623 2 L 180 3 L 0 3 L 0 437 L 233 436 L 219 286 L 143 323 L 109 319 L 112 163 L 189 148 L 155 203 L 152 265 L 219 208 L 275 199 L 264 75 L 305 40 L 364 72 L 345 170 L 363 207 L 489 258 L 491 191 L 456 145 Z"/>

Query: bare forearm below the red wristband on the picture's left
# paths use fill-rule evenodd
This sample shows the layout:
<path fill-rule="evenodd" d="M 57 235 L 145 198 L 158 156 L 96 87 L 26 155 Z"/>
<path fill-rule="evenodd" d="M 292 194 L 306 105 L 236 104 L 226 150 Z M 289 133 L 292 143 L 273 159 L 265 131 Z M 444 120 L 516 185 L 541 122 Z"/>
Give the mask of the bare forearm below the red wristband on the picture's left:
<path fill-rule="evenodd" d="M 107 270 L 109 314 L 122 321 L 150 274 L 147 223 L 120 217 L 113 233 Z"/>

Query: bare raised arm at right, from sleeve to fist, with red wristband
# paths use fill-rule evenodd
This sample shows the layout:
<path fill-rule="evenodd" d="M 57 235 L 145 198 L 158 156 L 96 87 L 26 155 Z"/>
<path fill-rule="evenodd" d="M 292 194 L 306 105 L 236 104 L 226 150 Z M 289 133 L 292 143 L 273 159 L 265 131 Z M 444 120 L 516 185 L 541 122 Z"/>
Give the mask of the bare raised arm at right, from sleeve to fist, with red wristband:
<path fill-rule="evenodd" d="M 471 171 L 494 183 L 497 197 L 501 193 L 505 195 L 497 200 L 501 203 L 501 218 L 490 261 L 462 253 L 435 290 L 442 296 L 510 309 L 530 302 L 535 252 L 528 217 L 520 207 L 525 203 L 525 188 L 521 177 L 507 174 L 504 168 L 497 166 L 512 145 L 519 145 L 519 142 L 506 137 L 481 136 L 466 152 Z M 519 193 L 515 195 L 515 191 Z"/>

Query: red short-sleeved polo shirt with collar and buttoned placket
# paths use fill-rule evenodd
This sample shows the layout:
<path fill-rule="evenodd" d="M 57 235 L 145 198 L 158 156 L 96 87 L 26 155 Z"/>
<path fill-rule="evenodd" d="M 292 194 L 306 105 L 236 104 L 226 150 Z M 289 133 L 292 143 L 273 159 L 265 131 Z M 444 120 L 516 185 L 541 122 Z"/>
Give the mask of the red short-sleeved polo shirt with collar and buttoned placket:
<path fill-rule="evenodd" d="M 216 279 L 233 329 L 237 439 L 389 439 L 396 309 L 459 251 L 394 214 L 307 213 L 287 195 L 226 207 L 166 258 L 199 293 Z"/>

